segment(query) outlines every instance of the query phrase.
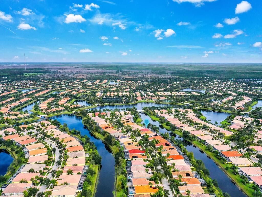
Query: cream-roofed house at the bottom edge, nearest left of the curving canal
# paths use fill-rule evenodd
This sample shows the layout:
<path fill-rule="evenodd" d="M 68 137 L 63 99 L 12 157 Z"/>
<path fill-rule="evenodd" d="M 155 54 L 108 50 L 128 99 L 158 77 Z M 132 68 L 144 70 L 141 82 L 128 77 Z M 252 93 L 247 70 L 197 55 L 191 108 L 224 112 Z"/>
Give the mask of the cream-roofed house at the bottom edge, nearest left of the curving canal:
<path fill-rule="evenodd" d="M 74 197 L 77 191 L 77 185 L 59 185 L 54 186 L 50 197 Z"/>

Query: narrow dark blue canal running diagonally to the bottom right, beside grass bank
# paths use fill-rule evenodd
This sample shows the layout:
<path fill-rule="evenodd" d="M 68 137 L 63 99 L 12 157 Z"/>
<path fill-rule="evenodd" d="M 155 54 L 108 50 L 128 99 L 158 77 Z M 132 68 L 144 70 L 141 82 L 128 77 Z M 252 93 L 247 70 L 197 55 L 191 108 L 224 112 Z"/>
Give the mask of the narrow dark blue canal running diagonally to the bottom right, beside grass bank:
<path fill-rule="evenodd" d="M 167 129 L 165 129 L 162 125 L 160 125 L 159 122 L 152 120 L 148 115 L 146 114 L 140 114 L 142 120 L 148 119 L 151 124 L 154 124 L 158 127 L 160 127 L 159 132 L 161 133 L 170 133 Z M 143 122 L 142 122 L 143 123 Z M 194 153 L 194 157 L 198 160 L 202 160 L 205 164 L 205 167 L 209 170 L 210 177 L 212 179 L 216 179 L 219 188 L 223 192 L 227 192 L 228 194 L 231 195 L 231 197 L 247 197 L 234 183 L 231 182 L 231 179 L 223 172 L 221 168 L 219 168 L 216 163 L 210 159 L 204 152 L 200 151 L 200 149 L 196 146 L 193 146 L 192 143 L 187 142 L 184 140 L 183 137 L 177 136 L 176 134 L 172 134 L 175 136 L 176 139 L 180 139 L 183 142 L 186 142 L 186 149 L 189 152 Z"/>

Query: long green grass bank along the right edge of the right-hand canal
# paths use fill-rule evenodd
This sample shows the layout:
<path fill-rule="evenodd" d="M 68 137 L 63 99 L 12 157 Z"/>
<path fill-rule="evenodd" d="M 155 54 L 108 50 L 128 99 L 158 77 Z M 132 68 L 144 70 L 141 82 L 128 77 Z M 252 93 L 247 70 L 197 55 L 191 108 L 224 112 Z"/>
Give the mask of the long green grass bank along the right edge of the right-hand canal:
<path fill-rule="evenodd" d="M 167 130 L 170 130 L 171 131 L 171 128 L 170 126 L 167 126 L 166 123 L 161 123 L 160 122 L 160 118 L 156 117 L 156 116 L 152 116 L 150 115 L 149 113 L 147 113 L 147 115 L 152 119 L 152 120 L 155 120 L 155 121 L 158 121 L 164 128 L 166 128 Z M 173 133 L 183 137 L 183 133 L 182 132 L 179 132 L 178 130 L 176 131 L 172 131 Z M 199 149 L 201 149 L 203 152 L 205 152 L 211 159 L 214 160 L 214 162 L 216 164 L 218 164 L 220 166 L 220 168 L 232 179 L 233 182 L 235 182 L 239 188 L 241 188 L 241 190 L 247 194 L 247 196 L 249 197 L 253 197 L 253 193 L 254 193 L 254 189 L 251 188 L 251 185 L 252 184 L 247 184 L 247 185 L 244 185 L 243 184 L 243 179 L 240 177 L 240 175 L 238 174 L 234 174 L 232 169 L 230 169 L 232 167 L 233 164 L 224 164 L 221 160 L 219 160 L 216 155 L 212 152 L 210 152 L 209 150 L 207 150 L 206 146 L 201 144 L 200 142 L 198 141 L 191 141 L 189 139 L 186 139 L 184 138 L 185 140 L 193 143 L 196 147 L 198 147 Z"/>

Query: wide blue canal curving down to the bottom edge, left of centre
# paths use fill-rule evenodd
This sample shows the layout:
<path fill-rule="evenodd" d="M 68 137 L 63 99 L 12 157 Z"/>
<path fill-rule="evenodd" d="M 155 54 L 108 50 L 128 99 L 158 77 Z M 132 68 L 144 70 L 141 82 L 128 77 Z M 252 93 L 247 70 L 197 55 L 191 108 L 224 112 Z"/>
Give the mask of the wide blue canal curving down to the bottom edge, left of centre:
<path fill-rule="evenodd" d="M 69 129 L 75 128 L 81 132 L 81 135 L 87 135 L 90 138 L 90 141 L 95 143 L 97 151 L 102 157 L 102 167 L 100 170 L 95 197 L 113 197 L 112 191 L 114 190 L 115 181 L 115 161 L 110 148 L 90 133 L 88 128 L 82 124 L 82 118 L 80 116 L 64 114 L 50 117 L 50 119 L 58 120 L 62 125 L 66 123 Z"/>

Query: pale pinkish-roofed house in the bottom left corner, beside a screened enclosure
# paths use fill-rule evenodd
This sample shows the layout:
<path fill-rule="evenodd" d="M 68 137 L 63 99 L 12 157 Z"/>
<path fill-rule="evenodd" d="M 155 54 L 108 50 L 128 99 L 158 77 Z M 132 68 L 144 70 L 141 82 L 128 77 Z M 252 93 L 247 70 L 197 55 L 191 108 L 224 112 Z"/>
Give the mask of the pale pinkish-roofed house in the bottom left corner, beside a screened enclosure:
<path fill-rule="evenodd" d="M 23 196 L 23 192 L 32 187 L 32 183 L 11 183 L 2 191 L 2 196 Z"/>

